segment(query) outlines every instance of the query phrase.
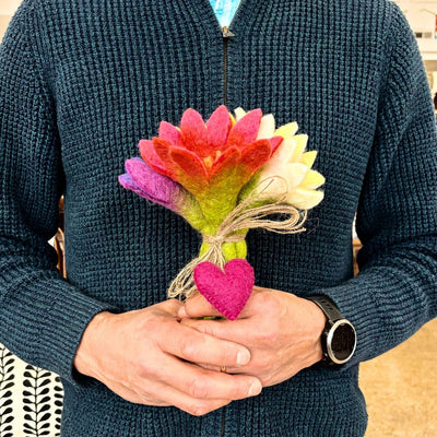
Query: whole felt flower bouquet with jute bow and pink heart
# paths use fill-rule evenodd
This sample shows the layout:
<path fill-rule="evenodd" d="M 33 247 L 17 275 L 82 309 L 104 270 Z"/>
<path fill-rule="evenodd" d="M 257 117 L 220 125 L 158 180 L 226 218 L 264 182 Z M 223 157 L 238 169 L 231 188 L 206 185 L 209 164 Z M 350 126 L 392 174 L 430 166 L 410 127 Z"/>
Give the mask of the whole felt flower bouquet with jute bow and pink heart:
<path fill-rule="evenodd" d="M 158 137 L 140 141 L 141 157 L 126 162 L 120 184 L 202 236 L 199 257 L 173 281 L 169 297 L 199 291 L 229 320 L 239 316 L 255 283 L 247 232 L 302 232 L 306 211 L 323 199 L 324 178 L 311 169 L 317 152 L 306 152 L 308 137 L 296 132 L 296 122 L 275 129 L 261 109 L 238 108 L 234 117 L 220 106 L 206 122 L 187 109 L 179 127 L 162 121 Z"/>

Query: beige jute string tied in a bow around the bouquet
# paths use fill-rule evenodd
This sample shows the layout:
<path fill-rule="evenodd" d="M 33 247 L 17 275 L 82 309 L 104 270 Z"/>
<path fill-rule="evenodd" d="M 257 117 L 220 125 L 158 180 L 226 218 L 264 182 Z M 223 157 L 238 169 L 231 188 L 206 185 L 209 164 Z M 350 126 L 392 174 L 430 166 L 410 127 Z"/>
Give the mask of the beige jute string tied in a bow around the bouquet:
<path fill-rule="evenodd" d="M 279 193 L 269 193 L 272 184 L 280 184 L 282 190 Z M 304 232 L 306 211 L 296 210 L 285 203 L 287 196 L 287 182 L 280 176 L 272 176 L 261 180 L 250 194 L 240 202 L 224 218 L 215 235 L 202 235 L 203 243 L 209 244 L 208 250 L 200 257 L 191 260 L 173 280 L 168 288 L 168 297 L 190 297 L 197 292 L 193 271 L 203 261 L 210 261 L 221 269 L 226 264 L 223 253 L 224 243 L 238 243 L 246 238 L 247 231 L 262 228 L 276 234 L 296 234 Z M 269 201 L 268 204 L 263 202 Z M 257 204 L 259 204 L 257 206 Z M 280 214 L 280 220 L 265 218 L 272 214 Z M 238 232 L 243 232 L 237 234 Z"/>

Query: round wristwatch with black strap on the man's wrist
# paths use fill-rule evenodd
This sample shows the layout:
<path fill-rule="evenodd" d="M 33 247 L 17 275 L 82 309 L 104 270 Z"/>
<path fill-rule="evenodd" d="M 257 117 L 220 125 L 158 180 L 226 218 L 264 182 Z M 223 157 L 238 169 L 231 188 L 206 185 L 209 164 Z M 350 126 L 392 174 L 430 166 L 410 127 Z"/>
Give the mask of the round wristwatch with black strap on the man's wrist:
<path fill-rule="evenodd" d="M 355 352 L 356 332 L 353 324 L 339 311 L 335 304 L 327 296 L 309 296 L 327 317 L 321 334 L 322 363 L 340 365 L 347 363 Z"/>

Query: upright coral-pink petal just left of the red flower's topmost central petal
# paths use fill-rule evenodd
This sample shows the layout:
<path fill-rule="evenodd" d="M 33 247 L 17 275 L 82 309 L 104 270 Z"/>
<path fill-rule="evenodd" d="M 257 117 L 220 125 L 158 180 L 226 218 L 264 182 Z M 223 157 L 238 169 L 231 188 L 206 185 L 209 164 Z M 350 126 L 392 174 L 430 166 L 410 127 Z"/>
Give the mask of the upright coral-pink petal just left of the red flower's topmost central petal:
<path fill-rule="evenodd" d="M 204 158 L 210 155 L 208 147 L 206 126 L 202 116 L 194 109 L 187 109 L 180 119 L 180 146 Z"/>

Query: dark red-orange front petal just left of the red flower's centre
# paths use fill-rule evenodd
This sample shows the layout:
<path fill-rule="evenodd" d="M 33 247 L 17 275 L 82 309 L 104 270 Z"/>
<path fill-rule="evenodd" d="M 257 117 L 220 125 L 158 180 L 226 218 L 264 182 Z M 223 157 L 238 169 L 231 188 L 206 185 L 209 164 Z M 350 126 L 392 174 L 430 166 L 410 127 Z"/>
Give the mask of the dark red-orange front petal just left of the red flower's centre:
<path fill-rule="evenodd" d="M 206 168 L 196 153 L 184 147 L 170 147 L 169 156 L 179 169 L 182 170 L 182 174 L 179 173 L 178 175 L 178 181 L 186 186 L 187 189 L 208 184 Z"/>

